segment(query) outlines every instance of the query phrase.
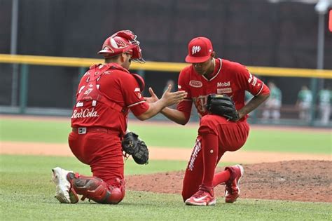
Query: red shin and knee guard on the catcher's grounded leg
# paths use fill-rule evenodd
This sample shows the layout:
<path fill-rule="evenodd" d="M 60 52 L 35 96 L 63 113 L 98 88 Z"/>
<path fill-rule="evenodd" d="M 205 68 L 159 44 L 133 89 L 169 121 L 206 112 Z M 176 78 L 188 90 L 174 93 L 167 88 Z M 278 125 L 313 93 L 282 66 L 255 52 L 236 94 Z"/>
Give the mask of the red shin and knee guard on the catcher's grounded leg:
<path fill-rule="evenodd" d="M 77 194 L 82 195 L 82 200 L 88 198 L 97 203 L 117 204 L 125 196 L 125 187 L 120 182 L 120 187 L 111 187 L 102 179 L 88 177 L 74 173 L 68 174 L 68 180 Z"/>

